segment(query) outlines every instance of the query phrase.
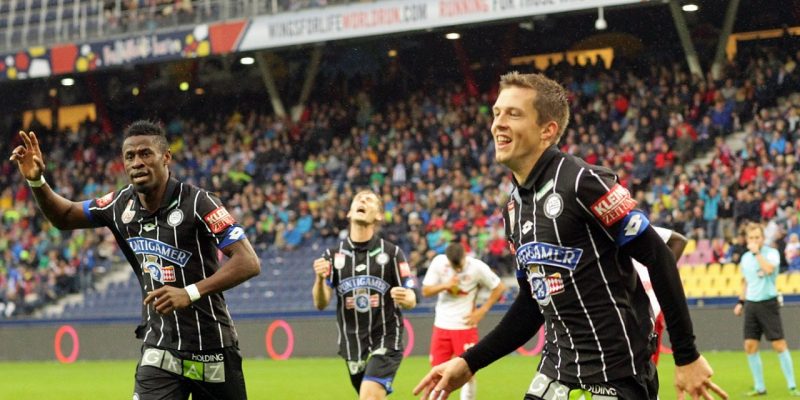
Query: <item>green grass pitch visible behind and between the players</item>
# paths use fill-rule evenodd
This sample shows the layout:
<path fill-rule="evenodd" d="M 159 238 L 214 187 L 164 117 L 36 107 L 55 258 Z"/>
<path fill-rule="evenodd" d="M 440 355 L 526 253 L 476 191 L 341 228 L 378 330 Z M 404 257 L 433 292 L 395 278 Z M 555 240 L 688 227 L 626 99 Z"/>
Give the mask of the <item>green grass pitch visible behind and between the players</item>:
<path fill-rule="evenodd" d="M 732 399 L 744 398 L 752 379 L 742 352 L 706 353 L 720 384 Z M 790 399 L 772 351 L 762 351 L 769 396 Z M 800 357 L 794 357 L 800 370 Z M 533 377 L 539 357 L 508 356 L 478 374 L 481 399 L 521 399 Z M 85 361 L 0 363 L 0 399 L 130 399 L 136 361 Z M 390 399 L 412 399 L 411 389 L 428 371 L 425 357 L 403 361 Z M 287 361 L 246 359 L 244 363 L 250 399 L 354 399 L 344 363 L 336 358 L 298 358 Z M 662 399 L 674 399 L 670 356 L 659 366 Z M 457 399 L 458 396 L 450 396 Z M 763 397 L 762 397 L 763 398 Z"/>

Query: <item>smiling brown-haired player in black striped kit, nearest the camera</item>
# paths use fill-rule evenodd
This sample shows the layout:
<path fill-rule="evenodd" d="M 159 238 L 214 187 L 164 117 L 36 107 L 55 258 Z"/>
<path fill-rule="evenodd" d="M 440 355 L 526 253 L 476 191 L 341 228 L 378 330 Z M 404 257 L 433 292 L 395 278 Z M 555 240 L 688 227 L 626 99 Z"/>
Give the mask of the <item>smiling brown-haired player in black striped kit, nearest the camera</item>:
<path fill-rule="evenodd" d="M 664 310 L 679 396 L 727 398 L 695 347 L 669 248 L 613 173 L 555 146 L 569 119 L 564 88 L 539 74 L 506 74 L 493 112 L 496 158 L 514 178 L 503 214 L 520 294 L 491 333 L 435 367 L 415 393 L 449 394 L 544 325 L 526 399 L 658 398 L 652 316 L 633 257 L 649 267 Z"/>

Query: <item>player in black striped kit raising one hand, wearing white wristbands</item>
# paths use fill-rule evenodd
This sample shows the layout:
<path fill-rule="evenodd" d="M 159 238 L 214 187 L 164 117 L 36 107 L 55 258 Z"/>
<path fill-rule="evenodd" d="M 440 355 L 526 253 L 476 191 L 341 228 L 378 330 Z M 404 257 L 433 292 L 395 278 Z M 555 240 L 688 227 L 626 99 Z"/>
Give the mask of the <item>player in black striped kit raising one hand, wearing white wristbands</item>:
<path fill-rule="evenodd" d="M 59 229 L 106 226 L 142 287 L 143 340 L 133 398 L 246 399 L 242 357 L 222 291 L 258 275 L 253 247 L 220 200 L 169 173 L 164 130 L 137 121 L 125 132 L 131 184 L 103 197 L 73 202 L 44 179 L 36 135 L 11 160 L 28 180 L 45 217 Z M 221 250 L 229 257 L 223 265 Z"/>

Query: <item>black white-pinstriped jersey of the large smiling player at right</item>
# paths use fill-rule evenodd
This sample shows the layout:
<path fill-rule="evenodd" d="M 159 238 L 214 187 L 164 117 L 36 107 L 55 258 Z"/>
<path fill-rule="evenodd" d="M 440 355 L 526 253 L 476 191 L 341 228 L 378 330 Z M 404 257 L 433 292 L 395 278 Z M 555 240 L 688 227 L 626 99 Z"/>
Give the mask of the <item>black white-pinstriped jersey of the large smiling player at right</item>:
<path fill-rule="evenodd" d="M 530 282 L 544 315 L 540 372 L 575 383 L 638 374 L 653 327 L 647 295 L 619 247 L 644 232 L 646 216 L 613 173 L 555 146 L 514 184 L 505 229 L 517 276 Z"/>

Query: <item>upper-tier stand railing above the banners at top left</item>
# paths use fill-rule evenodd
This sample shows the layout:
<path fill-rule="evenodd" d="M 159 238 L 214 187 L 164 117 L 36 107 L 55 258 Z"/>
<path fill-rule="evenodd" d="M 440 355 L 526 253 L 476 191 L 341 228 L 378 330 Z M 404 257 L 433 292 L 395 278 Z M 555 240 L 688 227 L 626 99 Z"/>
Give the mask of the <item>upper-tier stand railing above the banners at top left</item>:
<path fill-rule="evenodd" d="M 380 0 L 6 0 L 0 51 Z"/>

